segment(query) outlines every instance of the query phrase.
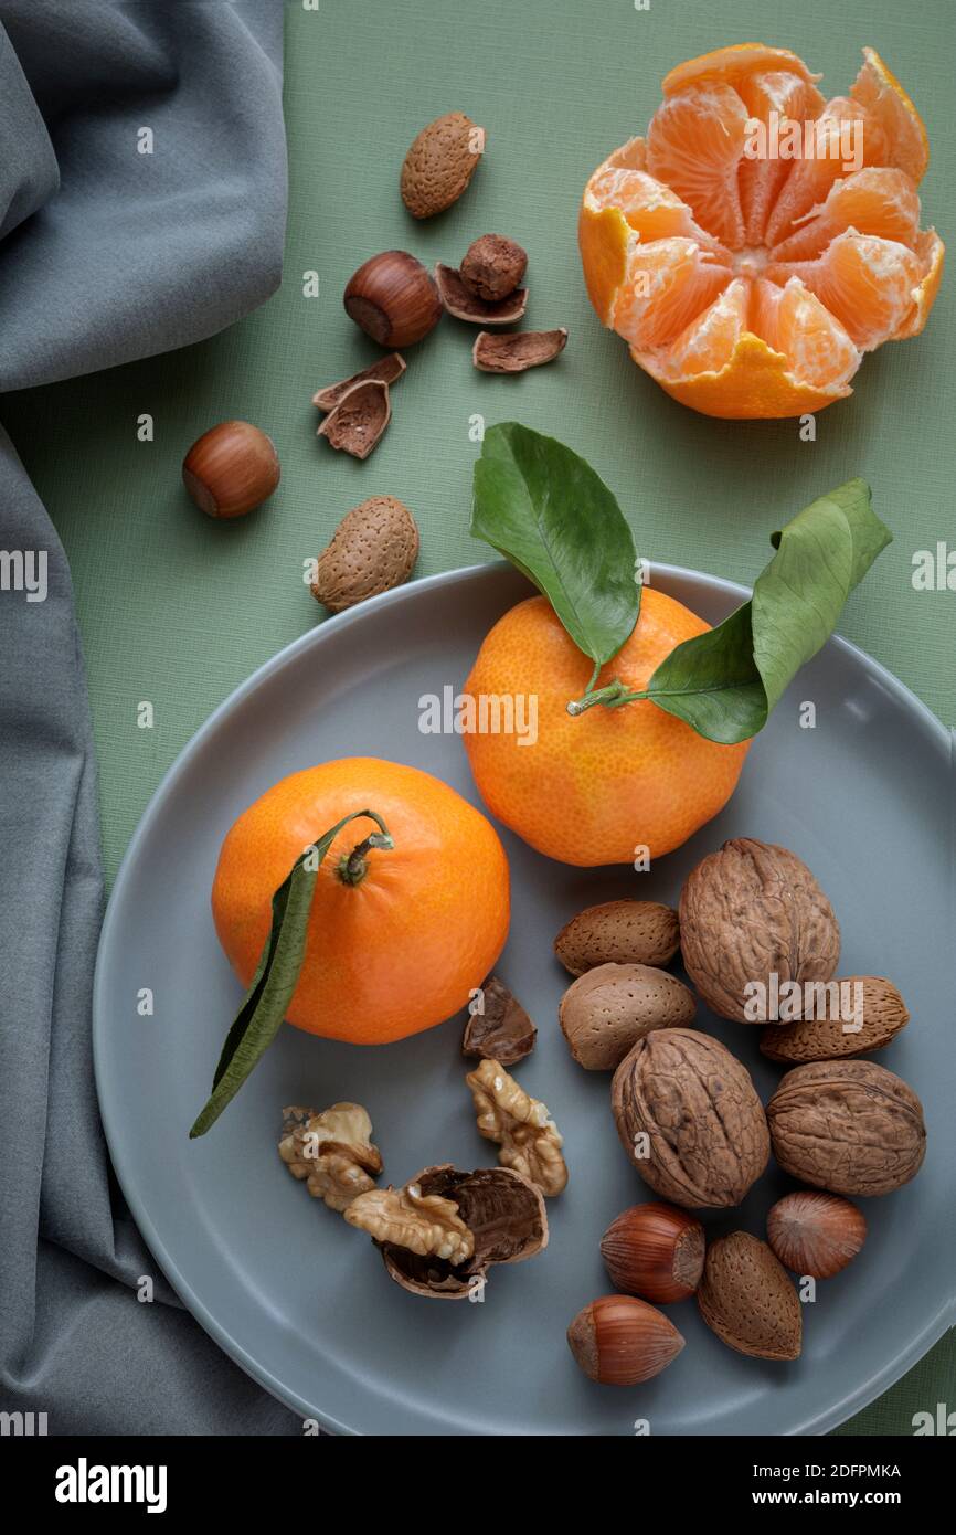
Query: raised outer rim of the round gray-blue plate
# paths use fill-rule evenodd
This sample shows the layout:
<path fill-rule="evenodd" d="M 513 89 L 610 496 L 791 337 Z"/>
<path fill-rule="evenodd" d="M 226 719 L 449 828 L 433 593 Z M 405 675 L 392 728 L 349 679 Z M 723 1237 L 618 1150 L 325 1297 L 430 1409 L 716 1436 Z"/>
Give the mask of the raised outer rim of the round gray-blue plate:
<path fill-rule="evenodd" d="M 727 580 L 723 576 L 712 576 L 706 571 L 695 571 L 684 565 L 672 565 L 663 560 L 649 562 L 651 582 L 654 585 L 654 577 L 672 577 L 675 580 L 687 582 L 692 586 L 706 588 L 707 591 L 718 591 L 724 596 L 740 597 L 747 600 L 752 596 L 750 588 L 743 586 L 740 582 Z M 218 1348 L 239 1365 L 253 1380 L 264 1386 L 278 1401 L 287 1406 L 290 1411 L 298 1412 L 301 1417 L 308 1420 L 318 1420 L 319 1424 L 331 1434 L 336 1435 L 356 1435 L 362 1437 L 364 1431 L 353 1428 L 348 1423 L 339 1421 L 333 1412 L 319 1412 L 312 1403 L 307 1403 L 295 1391 L 290 1391 L 282 1382 L 279 1382 L 272 1371 L 255 1358 L 249 1349 L 235 1339 L 227 1328 L 223 1326 L 212 1314 L 212 1311 L 204 1305 L 203 1300 L 195 1294 L 192 1285 L 183 1274 L 178 1262 L 173 1259 L 172 1253 L 166 1246 L 163 1237 L 160 1236 L 143 1199 L 140 1197 L 135 1179 L 130 1176 L 129 1168 L 124 1165 L 121 1153 L 121 1137 L 118 1134 L 118 1127 L 112 1119 L 112 1108 L 109 1104 L 109 1094 L 106 1093 L 104 1082 L 104 1058 L 109 1048 L 107 1042 L 107 1022 L 106 1010 L 103 1005 L 104 989 L 106 989 L 106 970 L 109 966 L 109 950 L 114 942 L 114 929 L 118 924 L 118 912 L 123 906 L 124 886 L 130 878 L 130 870 L 137 863 L 140 844 L 146 840 L 149 829 L 160 814 L 166 798 L 173 789 L 178 777 L 189 766 L 192 757 L 203 749 L 207 738 L 215 734 L 219 723 L 232 714 L 246 698 L 256 692 L 270 677 L 282 671 L 293 659 L 301 652 L 312 649 L 316 645 L 324 643 L 330 632 L 341 632 L 354 623 L 364 622 L 364 619 L 373 612 L 381 611 L 387 606 L 401 605 L 402 602 L 414 602 L 416 597 L 427 591 L 434 591 L 440 586 L 450 586 L 462 582 L 476 580 L 482 574 L 491 579 L 496 573 L 511 571 L 520 577 L 508 560 L 479 560 L 473 565 L 462 565 L 448 571 L 437 571 L 431 576 L 422 576 L 417 580 L 405 582 L 401 586 L 391 588 L 391 591 L 381 593 L 376 597 L 368 597 L 353 608 L 347 608 L 342 612 L 331 614 L 322 622 L 313 625 L 304 634 L 296 635 L 288 645 L 284 645 L 275 655 L 267 657 L 259 666 L 255 668 L 233 691 L 216 705 L 216 708 L 207 715 L 203 725 L 190 735 L 184 746 L 176 752 L 176 757 L 169 764 L 160 783 L 149 797 L 149 801 L 137 821 L 134 834 L 127 843 L 126 852 L 120 861 L 117 876 L 109 895 L 106 912 L 103 916 L 103 924 L 100 929 L 100 938 L 97 944 L 97 959 L 94 967 L 94 992 L 92 992 L 92 1055 L 94 1055 L 94 1079 L 97 1088 L 97 1102 L 100 1108 L 100 1119 L 103 1124 L 103 1133 L 106 1136 L 106 1144 L 109 1150 L 110 1164 L 117 1176 L 117 1182 L 123 1191 L 123 1197 L 129 1207 L 130 1216 L 143 1237 L 146 1246 L 152 1253 L 153 1259 L 163 1269 L 163 1274 L 172 1285 L 173 1291 L 193 1317 L 195 1322 L 212 1337 Z M 531 583 L 529 583 L 531 586 Z M 836 649 L 846 651 L 858 663 L 862 665 L 864 671 L 876 675 L 888 691 L 898 698 L 898 701 L 907 708 L 922 725 L 922 729 L 935 749 L 938 749 L 944 757 L 951 760 L 953 749 L 953 732 L 933 714 L 930 706 L 924 703 L 904 682 L 899 680 L 888 668 L 878 662 L 861 646 L 847 640 L 841 634 L 832 634 L 829 640 L 821 648 L 821 652 L 827 646 L 835 646 Z M 819 654 L 819 652 L 818 652 Z M 944 1332 L 953 1325 L 950 1312 L 956 1309 L 954 1303 L 941 1308 L 938 1315 L 927 1320 L 925 1326 L 916 1334 L 910 1345 L 902 1349 L 895 1358 L 887 1360 L 887 1363 L 879 1369 L 870 1380 L 856 1388 L 855 1392 L 844 1397 L 842 1400 L 833 1403 L 830 1408 L 821 1411 L 812 1418 L 807 1418 L 803 1424 L 795 1426 L 787 1431 L 783 1437 L 798 1437 L 798 1435 L 822 1435 L 830 1429 L 838 1428 L 846 1423 L 849 1417 L 855 1412 L 861 1412 L 872 1401 L 876 1400 L 884 1391 L 893 1386 L 908 1369 L 911 1369 L 935 1343 L 944 1335 Z"/>

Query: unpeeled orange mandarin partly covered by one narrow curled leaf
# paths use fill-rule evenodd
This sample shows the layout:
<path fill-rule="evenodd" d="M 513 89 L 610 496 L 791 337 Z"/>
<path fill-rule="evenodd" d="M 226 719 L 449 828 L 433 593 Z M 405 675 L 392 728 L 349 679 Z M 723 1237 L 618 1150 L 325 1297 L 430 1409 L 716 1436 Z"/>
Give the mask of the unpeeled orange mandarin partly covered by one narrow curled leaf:
<path fill-rule="evenodd" d="M 212 889 L 219 942 L 242 985 L 256 973 L 273 895 L 322 834 L 368 806 L 391 849 L 345 826 L 316 875 L 305 953 L 285 1018 L 385 1044 L 457 1013 L 508 936 L 505 849 L 491 823 L 431 774 L 374 757 L 307 768 L 267 789 L 226 835 Z"/>

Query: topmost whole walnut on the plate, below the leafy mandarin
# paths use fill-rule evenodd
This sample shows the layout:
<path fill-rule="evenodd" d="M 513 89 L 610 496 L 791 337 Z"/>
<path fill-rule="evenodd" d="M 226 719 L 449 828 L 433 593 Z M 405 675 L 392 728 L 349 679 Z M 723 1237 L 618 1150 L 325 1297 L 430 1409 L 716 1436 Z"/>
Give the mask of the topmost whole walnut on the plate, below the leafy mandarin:
<path fill-rule="evenodd" d="M 839 961 L 839 926 L 796 853 L 738 837 L 691 872 L 680 896 L 680 946 L 707 1007 L 740 1024 L 747 987 L 829 981 Z"/>

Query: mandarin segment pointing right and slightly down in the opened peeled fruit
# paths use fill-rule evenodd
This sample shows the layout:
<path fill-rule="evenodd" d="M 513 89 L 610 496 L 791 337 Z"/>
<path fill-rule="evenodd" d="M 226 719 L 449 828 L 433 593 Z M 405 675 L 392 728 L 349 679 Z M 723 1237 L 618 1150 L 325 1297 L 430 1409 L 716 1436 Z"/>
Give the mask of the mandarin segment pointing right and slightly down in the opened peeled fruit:
<path fill-rule="evenodd" d="M 789 276 L 798 276 L 842 321 L 856 345 L 872 352 L 911 318 L 924 270 L 919 256 L 899 241 L 849 229 L 816 261 L 767 267 L 773 282 Z"/>

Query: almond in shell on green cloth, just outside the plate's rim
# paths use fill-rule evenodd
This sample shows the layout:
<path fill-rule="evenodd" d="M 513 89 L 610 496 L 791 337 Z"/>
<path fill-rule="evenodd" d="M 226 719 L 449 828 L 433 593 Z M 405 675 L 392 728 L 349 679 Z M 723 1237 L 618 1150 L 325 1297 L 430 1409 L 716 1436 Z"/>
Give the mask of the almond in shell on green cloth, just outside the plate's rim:
<path fill-rule="evenodd" d="M 316 560 L 312 596 L 331 612 L 407 582 L 419 557 L 414 517 L 394 496 L 370 496 L 347 511 Z"/>

